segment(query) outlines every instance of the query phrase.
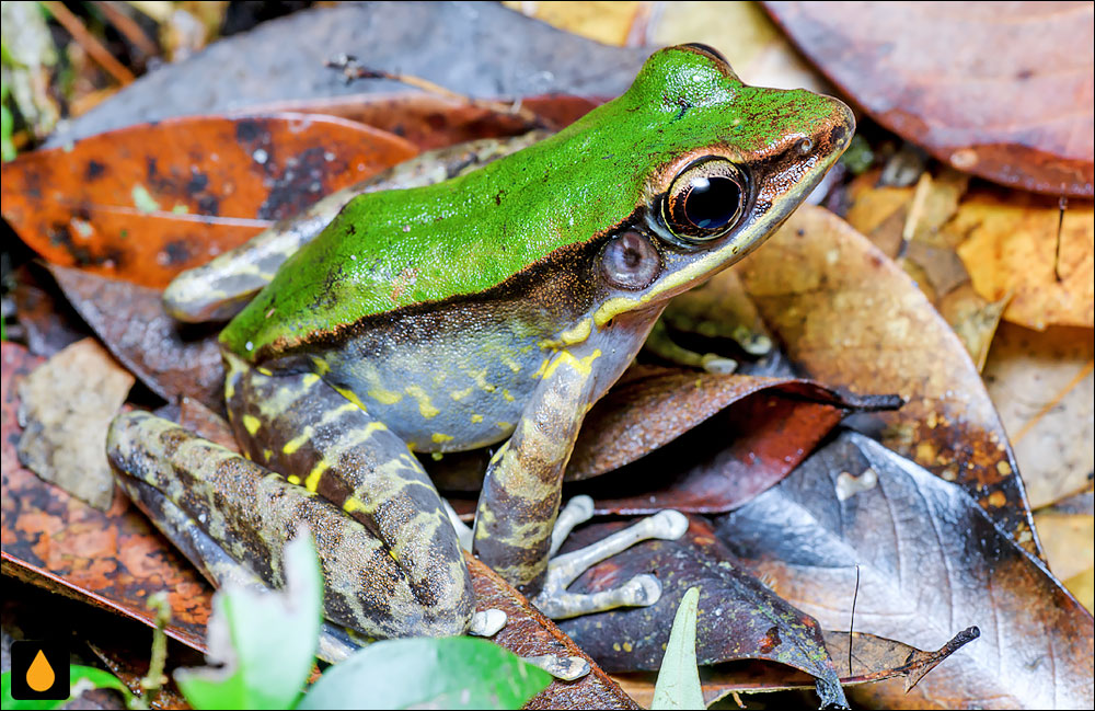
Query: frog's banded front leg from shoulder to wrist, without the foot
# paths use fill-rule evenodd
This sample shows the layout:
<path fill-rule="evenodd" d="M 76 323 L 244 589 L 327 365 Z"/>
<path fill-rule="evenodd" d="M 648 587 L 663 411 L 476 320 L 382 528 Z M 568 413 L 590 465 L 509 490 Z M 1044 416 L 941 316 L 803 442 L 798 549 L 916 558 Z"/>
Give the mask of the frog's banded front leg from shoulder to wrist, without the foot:
<path fill-rule="evenodd" d="M 483 481 L 475 555 L 526 595 L 543 584 L 563 471 L 586 414 L 591 364 L 599 355 L 564 351 L 552 359 Z"/>

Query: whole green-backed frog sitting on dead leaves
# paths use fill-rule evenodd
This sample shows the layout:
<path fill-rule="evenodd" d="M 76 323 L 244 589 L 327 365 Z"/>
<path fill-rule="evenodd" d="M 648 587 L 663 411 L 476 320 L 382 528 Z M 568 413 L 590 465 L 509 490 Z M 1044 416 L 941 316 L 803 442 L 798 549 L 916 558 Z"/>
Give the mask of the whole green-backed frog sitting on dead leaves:
<path fill-rule="evenodd" d="M 750 87 L 711 47 L 667 47 L 548 138 L 449 180 L 359 194 L 261 262 L 242 248 L 198 267 L 165 293 L 180 318 L 264 285 L 220 334 L 243 455 L 123 413 L 107 438 L 117 480 L 207 574 L 245 561 L 278 586 L 303 523 L 327 619 L 373 638 L 459 634 L 474 593 L 416 455 L 493 447 L 472 553 L 546 606 L 586 413 L 667 302 L 763 243 L 854 127 L 838 99 Z M 201 291 L 212 298 L 188 310 Z M 632 540 L 569 555 L 588 564 Z"/>

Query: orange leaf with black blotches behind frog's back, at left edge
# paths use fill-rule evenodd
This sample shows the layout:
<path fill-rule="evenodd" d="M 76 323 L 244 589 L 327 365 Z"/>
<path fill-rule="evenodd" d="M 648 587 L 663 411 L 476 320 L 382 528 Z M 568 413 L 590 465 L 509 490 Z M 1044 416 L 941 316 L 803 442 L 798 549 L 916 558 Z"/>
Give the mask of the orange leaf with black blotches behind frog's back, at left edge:
<path fill-rule="evenodd" d="M 49 262 L 162 288 L 416 152 L 333 117 L 175 118 L 4 163 L 3 216 Z"/>

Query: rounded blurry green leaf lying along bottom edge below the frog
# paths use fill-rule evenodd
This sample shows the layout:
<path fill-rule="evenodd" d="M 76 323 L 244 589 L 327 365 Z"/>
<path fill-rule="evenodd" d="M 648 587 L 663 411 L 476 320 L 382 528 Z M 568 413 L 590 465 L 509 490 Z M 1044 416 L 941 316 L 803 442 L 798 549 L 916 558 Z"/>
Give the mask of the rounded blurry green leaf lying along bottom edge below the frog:
<path fill-rule="evenodd" d="M 551 676 L 470 637 L 376 642 L 327 669 L 301 709 L 520 709 Z"/>

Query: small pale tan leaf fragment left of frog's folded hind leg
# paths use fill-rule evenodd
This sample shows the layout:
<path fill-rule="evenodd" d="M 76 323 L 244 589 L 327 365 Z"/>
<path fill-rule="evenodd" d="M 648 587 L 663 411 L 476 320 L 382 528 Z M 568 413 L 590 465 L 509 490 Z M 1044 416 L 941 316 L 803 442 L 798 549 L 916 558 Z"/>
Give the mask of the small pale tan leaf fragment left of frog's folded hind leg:
<path fill-rule="evenodd" d="M 20 462 L 100 511 L 114 501 L 106 428 L 134 377 L 94 339 L 66 347 L 19 389 Z"/>

